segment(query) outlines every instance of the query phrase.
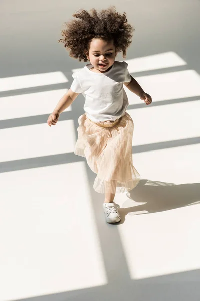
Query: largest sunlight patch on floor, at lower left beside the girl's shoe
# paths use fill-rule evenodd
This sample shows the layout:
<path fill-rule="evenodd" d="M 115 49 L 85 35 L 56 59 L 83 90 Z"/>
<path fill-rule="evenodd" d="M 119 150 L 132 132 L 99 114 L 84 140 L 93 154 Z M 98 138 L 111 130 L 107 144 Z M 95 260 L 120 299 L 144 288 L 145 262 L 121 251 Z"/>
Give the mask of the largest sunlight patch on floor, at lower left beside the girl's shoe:
<path fill-rule="evenodd" d="M 3 173 L 0 183 L 1 300 L 107 283 L 84 163 Z"/>

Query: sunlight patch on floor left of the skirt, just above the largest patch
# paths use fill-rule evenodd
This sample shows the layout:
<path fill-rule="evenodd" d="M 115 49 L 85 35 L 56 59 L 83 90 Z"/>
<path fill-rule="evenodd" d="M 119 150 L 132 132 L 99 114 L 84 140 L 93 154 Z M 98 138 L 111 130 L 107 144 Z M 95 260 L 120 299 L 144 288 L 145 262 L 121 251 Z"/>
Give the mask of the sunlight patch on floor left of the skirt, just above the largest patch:
<path fill-rule="evenodd" d="M 36 158 L 74 151 L 76 143 L 73 120 L 5 128 L 0 130 L 0 162 Z"/>

